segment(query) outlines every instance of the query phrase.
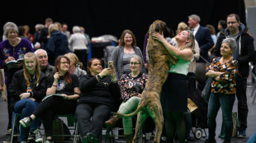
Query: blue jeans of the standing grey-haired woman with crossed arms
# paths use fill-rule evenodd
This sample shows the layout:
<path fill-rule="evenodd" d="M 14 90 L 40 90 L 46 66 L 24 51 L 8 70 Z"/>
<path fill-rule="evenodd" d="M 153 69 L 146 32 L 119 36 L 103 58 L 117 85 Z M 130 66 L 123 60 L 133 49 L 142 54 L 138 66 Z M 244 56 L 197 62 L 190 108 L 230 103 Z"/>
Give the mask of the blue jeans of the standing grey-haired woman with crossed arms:
<path fill-rule="evenodd" d="M 216 136 L 216 116 L 219 109 L 222 110 L 223 125 L 225 127 L 225 140 L 230 140 L 233 131 L 232 109 L 235 103 L 235 94 L 214 94 L 211 93 L 208 103 L 207 125 L 209 137 Z"/>

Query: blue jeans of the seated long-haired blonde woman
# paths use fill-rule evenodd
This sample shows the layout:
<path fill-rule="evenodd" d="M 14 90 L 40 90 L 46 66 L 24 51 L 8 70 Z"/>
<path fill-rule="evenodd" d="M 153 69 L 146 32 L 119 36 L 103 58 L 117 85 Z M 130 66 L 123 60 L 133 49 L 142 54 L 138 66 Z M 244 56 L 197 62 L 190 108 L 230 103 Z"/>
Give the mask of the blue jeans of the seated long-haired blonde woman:
<path fill-rule="evenodd" d="M 20 113 L 21 118 L 26 118 L 31 116 L 39 103 L 32 101 L 31 99 L 21 99 L 17 101 L 14 105 L 14 112 Z M 36 128 L 40 127 L 40 120 L 36 118 L 33 122 L 31 122 L 30 127 L 22 127 L 21 126 L 21 136 L 20 141 L 27 141 L 29 131 L 34 131 Z"/>

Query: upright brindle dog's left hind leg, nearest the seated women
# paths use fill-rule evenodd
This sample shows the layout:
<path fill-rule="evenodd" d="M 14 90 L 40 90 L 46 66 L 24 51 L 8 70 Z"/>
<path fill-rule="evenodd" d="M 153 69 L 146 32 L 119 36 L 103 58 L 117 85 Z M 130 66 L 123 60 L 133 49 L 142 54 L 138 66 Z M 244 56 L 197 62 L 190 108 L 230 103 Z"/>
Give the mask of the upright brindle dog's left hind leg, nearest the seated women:
<path fill-rule="evenodd" d="M 138 132 L 140 130 L 142 130 L 142 126 L 145 122 L 145 120 L 149 117 L 149 114 L 143 111 L 140 111 L 140 113 L 138 113 L 137 115 L 137 122 L 136 122 L 136 127 L 135 127 L 135 136 L 133 138 L 132 143 L 136 142 L 137 136 L 138 136 Z M 142 135 L 140 135 L 142 136 Z"/>

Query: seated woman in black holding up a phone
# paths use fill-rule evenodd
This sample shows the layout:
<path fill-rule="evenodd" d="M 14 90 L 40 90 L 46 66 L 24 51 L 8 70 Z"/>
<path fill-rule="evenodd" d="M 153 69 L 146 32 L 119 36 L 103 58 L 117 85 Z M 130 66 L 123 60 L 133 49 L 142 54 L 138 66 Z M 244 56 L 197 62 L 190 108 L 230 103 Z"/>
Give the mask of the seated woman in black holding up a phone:
<path fill-rule="evenodd" d="M 88 75 L 80 79 L 81 97 L 76 109 L 78 131 L 83 143 L 102 142 L 104 121 L 113 111 L 115 99 L 120 98 L 120 89 L 113 68 L 102 70 L 102 61 L 88 61 Z"/>

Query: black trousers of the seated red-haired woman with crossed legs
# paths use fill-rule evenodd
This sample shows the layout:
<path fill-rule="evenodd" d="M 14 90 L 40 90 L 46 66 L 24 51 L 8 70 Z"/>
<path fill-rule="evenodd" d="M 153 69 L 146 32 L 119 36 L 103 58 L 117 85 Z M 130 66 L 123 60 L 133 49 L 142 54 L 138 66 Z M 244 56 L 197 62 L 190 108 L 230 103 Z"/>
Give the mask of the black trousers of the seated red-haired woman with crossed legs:
<path fill-rule="evenodd" d="M 76 104 L 73 104 L 72 101 L 63 99 L 60 96 L 51 96 L 41 102 L 33 114 L 36 118 L 43 120 L 45 136 L 47 137 L 53 134 L 55 115 L 74 114 L 75 108 Z"/>

